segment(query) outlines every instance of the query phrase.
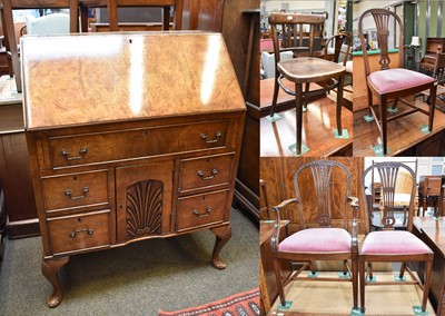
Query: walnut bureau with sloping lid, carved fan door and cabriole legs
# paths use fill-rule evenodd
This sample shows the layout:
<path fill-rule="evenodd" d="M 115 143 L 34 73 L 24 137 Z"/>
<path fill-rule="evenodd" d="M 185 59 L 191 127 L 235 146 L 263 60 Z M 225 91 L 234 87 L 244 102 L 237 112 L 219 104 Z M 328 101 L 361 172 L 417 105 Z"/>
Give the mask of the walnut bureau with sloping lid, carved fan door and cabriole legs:
<path fill-rule="evenodd" d="M 48 305 L 69 256 L 136 240 L 210 229 L 225 268 L 246 109 L 222 37 L 27 37 L 21 49 Z"/>

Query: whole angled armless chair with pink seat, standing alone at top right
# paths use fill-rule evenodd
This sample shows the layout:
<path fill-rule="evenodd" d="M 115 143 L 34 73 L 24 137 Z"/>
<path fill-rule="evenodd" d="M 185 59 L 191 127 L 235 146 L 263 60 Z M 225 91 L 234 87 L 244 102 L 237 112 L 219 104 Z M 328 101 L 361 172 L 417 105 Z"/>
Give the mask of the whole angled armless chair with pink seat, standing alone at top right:
<path fill-rule="evenodd" d="M 368 55 L 366 51 L 366 42 L 363 29 L 364 18 L 370 14 L 374 18 L 375 26 L 377 29 L 377 42 L 380 49 L 379 66 L 380 70 L 370 72 Z M 388 41 L 389 41 L 389 26 L 393 19 L 396 21 L 398 30 L 398 63 L 390 66 L 390 59 L 388 56 Z M 365 75 L 368 91 L 368 111 L 369 117 L 374 117 L 375 122 L 380 131 L 382 149 L 383 154 L 388 154 L 387 148 L 387 121 L 398 119 L 400 117 L 411 115 L 416 111 L 421 111 L 428 116 L 428 131 L 433 130 L 434 108 L 436 102 L 436 90 L 437 80 L 431 78 L 424 73 L 419 73 L 413 70 L 403 68 L 403 23 L 400 18 L 386 9 L 369 9 L 366 10 L 358 20 L 358 34 L 360 37 L 363 58 L 365 61 Z M 394 34 L 390 34 L 394 36 Z M 394 62 L 393 62 L 394 63 Z M 422 92 L 423 90 L 429 90 L 431 98 L 428 99 L 429 109 L 425 110 L 422 107 L 417 107 L 415 103 L 408 102 L 403 98 L 413 96 Z M 374 109 L 373 96 L 376 98 L 378 103 L 378 113 Z M 409 110 L 400 111 L 394 116 L 387 117 L 388 101 L 394 100 L 392 109 L 389 111 L 395 112 L 398 101 L 407 105 Z"/>

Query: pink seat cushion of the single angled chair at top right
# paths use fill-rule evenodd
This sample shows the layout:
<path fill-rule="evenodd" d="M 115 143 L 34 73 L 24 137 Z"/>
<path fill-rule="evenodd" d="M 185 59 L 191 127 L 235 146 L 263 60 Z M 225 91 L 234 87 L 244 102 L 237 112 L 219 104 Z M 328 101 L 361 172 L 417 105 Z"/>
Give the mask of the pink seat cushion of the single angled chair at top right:
<path fill-rule="evenodd" d="M 406 90 L 434 81 L 435 79 L 432 77 L 402 68 L 379 70 L 368 76 L 368 83 L 379 95 Z"/>

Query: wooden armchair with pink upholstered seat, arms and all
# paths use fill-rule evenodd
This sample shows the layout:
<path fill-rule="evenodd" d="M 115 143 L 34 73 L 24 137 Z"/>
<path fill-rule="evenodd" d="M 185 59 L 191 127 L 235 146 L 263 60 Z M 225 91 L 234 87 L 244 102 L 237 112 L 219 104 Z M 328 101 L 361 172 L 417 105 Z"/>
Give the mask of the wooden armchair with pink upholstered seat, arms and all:
<path fill-rule="evenodd" d="M 350 178 L 348 169 L 338 161 L 315 160 L 307 162 L 294 176 L 296 197 L 273 207 L 276 221 L 270 244 L 280 308 L 288 308 L 291 305 L 290 302 L 286 302 L 284 287 L 289 282 L 298 279 L 298 275 L 307 268 L 310 269 L 309 276 L 312 277 L 305 278 L 306 280 L 352 282 L 353 308 L 358 308 L 356 220 L 358 199 L 349 196 Z M 298 218 L 299 221 L 299 230 L 279 240 L 279 224 L 283 211 L 294 213 L 293 217 Z M 308 218 L 316 218 L 318 226 L 307 227 L 305 219 Z M 340 260 L 343 261 L 343 271 L 339 273 L 338 278 L 313 278 L 317 276 L 316 260 Z M 352 269 L 347 260 L 352 261 Z M 304 264 L 288 278 L 283 279 L 283 261 Z"/>

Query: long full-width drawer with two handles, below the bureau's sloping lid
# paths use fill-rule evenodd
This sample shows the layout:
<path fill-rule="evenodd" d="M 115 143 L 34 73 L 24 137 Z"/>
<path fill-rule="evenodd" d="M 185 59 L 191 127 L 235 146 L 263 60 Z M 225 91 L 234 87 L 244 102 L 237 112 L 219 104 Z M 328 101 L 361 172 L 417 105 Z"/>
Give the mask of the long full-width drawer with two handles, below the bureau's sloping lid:
<path fill-rule="evenodd" d="M 168 154 L 199 151 L 227 146 L 229 120 L 49 137 L 52 168 Z"/>

